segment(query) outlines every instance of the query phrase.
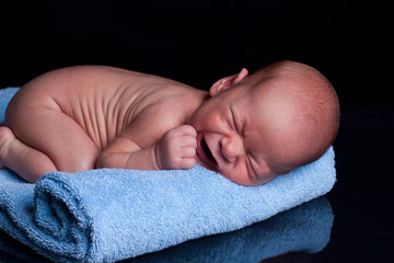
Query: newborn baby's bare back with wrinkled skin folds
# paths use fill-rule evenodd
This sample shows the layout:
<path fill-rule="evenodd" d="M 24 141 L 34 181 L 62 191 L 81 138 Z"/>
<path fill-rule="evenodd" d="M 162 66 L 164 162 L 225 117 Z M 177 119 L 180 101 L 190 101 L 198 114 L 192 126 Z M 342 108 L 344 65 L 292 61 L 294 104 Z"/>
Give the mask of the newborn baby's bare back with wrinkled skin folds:
<path fill-rule="evenodd" d="M 50 71 L 26 83 L 10 103 L 8 114 L 21 106 L 62 112 L 103 149 L 146 108 L 195 92 L 157 76 L 78 66 Z"/>

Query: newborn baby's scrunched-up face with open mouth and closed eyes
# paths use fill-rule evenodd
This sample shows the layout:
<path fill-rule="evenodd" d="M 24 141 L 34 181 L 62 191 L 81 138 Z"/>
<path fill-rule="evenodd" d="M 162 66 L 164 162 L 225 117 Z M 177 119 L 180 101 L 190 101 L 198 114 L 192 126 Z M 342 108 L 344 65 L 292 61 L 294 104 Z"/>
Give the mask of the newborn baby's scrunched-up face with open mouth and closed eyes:
<path fill-rule="evenodd" d="M 198 134 L 198 163 L 242 185 L 291 171 L 298 161 L 289 148 L 293 108 L 271 93 L 232 87 L 206 101 L 189 119 Z"/>

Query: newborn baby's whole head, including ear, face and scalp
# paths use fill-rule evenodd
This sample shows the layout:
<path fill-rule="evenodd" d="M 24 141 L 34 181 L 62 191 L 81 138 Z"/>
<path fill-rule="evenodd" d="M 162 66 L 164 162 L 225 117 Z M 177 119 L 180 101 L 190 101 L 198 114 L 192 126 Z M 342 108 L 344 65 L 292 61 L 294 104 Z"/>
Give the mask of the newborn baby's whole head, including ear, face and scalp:
<path fill-rule="evenodd" d="M 333 144 L 339 105 L 317 70 L 296 61 L 217 81 L 189 119 L 198 162 L 242 185 L 265 184 L 318 159 Z"/>

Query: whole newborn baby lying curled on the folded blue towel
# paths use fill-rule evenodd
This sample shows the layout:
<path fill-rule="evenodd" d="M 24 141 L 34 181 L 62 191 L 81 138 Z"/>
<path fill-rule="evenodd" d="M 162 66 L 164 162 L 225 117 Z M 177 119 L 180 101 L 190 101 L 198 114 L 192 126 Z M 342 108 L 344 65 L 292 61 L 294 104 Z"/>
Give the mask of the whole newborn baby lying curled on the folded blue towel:
<path fill-rule="evenodd" d="M 112 67 L 45 73 L 12 99 L 0 168 L 28 182 L 50 171 L 188 169 L 265 184 L 320 158 L 339 105 L 317 70 L 279 61 L 217 81 L 209 92 Z"/>

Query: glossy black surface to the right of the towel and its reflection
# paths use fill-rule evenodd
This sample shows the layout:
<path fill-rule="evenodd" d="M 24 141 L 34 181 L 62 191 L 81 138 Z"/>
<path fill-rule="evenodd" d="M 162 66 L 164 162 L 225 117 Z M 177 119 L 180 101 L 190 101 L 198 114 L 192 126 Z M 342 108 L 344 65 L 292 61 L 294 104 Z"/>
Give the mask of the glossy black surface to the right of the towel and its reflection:
<path fill-rule="evenodd" d="M 318 259 L 392 262 L 394 105 L 344 108 L 335 148 L 338 182 L 328 197 L 336 217 Z"/>

